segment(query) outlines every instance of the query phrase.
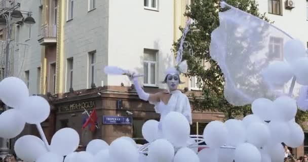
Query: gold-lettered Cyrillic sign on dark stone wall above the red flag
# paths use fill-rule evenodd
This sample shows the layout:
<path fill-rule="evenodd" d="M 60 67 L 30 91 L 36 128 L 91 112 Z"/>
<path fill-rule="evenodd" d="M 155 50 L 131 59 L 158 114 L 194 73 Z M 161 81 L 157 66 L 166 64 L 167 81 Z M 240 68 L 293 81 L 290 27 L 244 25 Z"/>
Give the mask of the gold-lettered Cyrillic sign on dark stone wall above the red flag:
<path fill-rule="evenodd" d="M 93 109 L 94 107 L 95 107 L 94 101 L 77 102 L 68 105 L 61 105 L 59 106 L 59 111 L 60 112 L 76 111 L 76 110 L 84 110 L 84 108 Z"/>

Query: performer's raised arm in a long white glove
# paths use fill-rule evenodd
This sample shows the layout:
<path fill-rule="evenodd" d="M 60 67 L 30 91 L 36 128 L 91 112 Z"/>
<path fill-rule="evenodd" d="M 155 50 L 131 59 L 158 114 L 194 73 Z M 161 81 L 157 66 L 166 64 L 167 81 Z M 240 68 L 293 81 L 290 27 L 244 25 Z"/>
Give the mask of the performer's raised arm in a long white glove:
<path fill-rule="evenodd" d="M 157 93 L 157 94 L 148 94 L 145 93 L 143 91 L 143 89 L 140 87 L 139 83 L 138 83 L 138 78 L 137 77 L 133 77 L 132 78 L 135 89 L 137 91 L 137 94 L 139 96 L 140 99 L 144 100 L 144 101 L 149 101 L 151 103 L 156 103 L 159 102 L 161 99 L 161 93 Z"/>

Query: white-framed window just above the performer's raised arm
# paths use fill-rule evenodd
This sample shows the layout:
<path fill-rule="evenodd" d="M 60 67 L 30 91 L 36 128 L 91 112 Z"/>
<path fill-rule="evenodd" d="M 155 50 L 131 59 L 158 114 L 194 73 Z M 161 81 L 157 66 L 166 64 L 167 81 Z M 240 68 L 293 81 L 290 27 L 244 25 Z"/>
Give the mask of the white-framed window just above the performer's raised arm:
<path fill-rule="evenodd" d="M 143 56 L 143 74 L 144 80 L 143 83 L 146 85 L 156 85 L 156 55 L 157 50 L 148 50 L 144 49 Z"/>

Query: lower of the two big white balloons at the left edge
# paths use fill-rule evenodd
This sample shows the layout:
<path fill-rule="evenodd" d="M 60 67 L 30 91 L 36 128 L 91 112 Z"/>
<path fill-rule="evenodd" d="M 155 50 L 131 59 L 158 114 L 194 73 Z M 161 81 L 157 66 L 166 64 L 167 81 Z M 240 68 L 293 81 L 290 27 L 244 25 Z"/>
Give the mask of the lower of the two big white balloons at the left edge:
<path fill-rule="evenodd" d="M 25 127 L 25 120 L 18 109 L 8 109 L 0 115 L 0 137 L 14 138 Z"/>

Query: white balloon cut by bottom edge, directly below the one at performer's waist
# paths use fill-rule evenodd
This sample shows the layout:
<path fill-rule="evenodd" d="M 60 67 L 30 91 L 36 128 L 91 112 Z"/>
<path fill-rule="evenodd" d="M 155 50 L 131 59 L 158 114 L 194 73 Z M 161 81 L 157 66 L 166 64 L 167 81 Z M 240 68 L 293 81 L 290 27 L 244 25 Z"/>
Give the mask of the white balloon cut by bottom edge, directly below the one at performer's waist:
<path fill-rule="evenodd" d="M 174 162 L 199 162 L 198 155 L 191 149 L 187 147 L 180 148 L 175 156 L 174 156 Z"/>

